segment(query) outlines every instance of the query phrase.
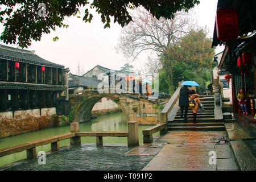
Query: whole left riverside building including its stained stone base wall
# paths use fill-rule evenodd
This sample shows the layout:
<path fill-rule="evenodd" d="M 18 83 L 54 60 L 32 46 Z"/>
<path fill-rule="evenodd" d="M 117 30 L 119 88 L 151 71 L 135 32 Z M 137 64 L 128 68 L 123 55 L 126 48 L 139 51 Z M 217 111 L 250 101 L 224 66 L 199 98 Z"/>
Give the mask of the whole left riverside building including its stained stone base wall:
<path fill-rule="evenodd" d="M 69 114 L 68 71 L 35 51 L 0 44 L 0 138 L 59 126 Z"/>

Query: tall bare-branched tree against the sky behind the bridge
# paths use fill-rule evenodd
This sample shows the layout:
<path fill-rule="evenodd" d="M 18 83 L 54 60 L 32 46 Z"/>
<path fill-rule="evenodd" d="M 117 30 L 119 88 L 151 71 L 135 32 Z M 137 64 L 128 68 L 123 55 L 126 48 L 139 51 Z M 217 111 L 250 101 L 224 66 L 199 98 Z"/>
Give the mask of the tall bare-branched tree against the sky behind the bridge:
<path fill-rule="evenodd" d="M 117 51 L 121 51 L 132 60 L 146 51 L 158 56 L 158 61 L 163 59 L 161 64 L 167 69 L 168 87 L 173 92 L 172 69 L 175 60 L 172 53 L 175 52 L 175 45 L 180 42 L 184 34 L 188 33 L 192 24 L 188 14 L 175 13 L 173 19 L 169 20 L 156 19 L 144 9 L 137 9 L 135 13 L 132 15 L 133 22 L 122 29 Z"/>

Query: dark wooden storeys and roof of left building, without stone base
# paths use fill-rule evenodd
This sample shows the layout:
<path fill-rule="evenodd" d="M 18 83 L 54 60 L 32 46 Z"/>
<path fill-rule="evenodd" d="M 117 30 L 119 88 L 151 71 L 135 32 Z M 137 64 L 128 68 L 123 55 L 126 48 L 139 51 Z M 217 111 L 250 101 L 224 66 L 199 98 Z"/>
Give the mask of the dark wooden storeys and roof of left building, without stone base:
<path fill-rule="evenodd" d="M 56 107 L 64 94 L 64 66 L 34 52 L 0 45 L 0 112 Z"/>

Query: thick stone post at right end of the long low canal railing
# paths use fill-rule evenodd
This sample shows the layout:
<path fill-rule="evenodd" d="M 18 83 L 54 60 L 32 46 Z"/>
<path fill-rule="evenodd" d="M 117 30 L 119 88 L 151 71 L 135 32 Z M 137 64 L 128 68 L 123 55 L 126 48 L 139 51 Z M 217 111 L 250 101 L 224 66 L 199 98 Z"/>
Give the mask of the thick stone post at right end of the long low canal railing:
<path fill-rule="evenodd" d="M 138 134 L 138 122 L 130 121 L 128 122 L 128 146 L 137 146 L 139 144 L 139 134 Z"/>

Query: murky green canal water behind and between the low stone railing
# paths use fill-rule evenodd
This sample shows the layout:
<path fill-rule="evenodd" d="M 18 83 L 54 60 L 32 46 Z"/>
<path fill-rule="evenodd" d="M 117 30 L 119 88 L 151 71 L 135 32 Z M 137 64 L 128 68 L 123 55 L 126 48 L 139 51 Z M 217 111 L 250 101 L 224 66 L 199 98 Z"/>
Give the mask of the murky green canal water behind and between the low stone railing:
<path fill-rule="evenodd" d="M 139 125 L 139 144 L 143 143 L 143 135 L 142 130 L 147 129 L 151 125 Z M 98 118 L 92 119 L 89 122 L 80 123 L 80 131 L 128 131 L 128 126 L 126 122 L 125 115 L 123 113 L 115 113 L 115 114 L 108 114 L 103 115 Z M 24 133 L 20 135 L 16 135 L 13 137 L 7 137 L 0 139 L 0 149 L 7 148 L 11 146 L 15 146 L 18 144 L 32 142 L 34 140 L 53 137 L 59 134 L 64 134 L 70 132 L 70 127 L 63 126 L 63 127 L 54 127 L 40 131 L 34 131 L 30 133 Z M 155 133 L 153 136 L 159 135 Z M 81 137 L 81 143 L 90 143 L 94 147 L 94 150 L 98 151 L 97 147 L 95 146 L 96 137 Z M 127 146 L 127 137 L 103 137 L 104 144 L 125 144 Z M 68 146 L 69 139 L 60 141 L 60 147 Z M 84 145 L 82 145 L 84 146 Z M 104 147 L 103 147 L 104 148 Z M 125 150 L 129 150 L 129 147 L 125 147 Z M 88 147 L 82 147 L 80 150 L 86 151 Z M 36 151 L 49 151 L 51 150 L 51 144 L 46 144 L 44 146 L 36 147 Z M 102 149 L 103 150 L 103 149 Z M 106 149 L 105 149 L 106 150 Z M 124 149 L 123 149 L 124 150 Z M 88 151 L 93 151 L 92 148 L 89 147 Z M 111 150 L 110 150 L 111 151 Z M 79 152 L 79 151 L 77 151 Z M 58 155 L 59 152 L 55 154 L 51 154 L 52 156 Z M 61 154 L 61 153 L 60 153 Z M 51 156 L 49 155 L 49 156 Z M 66 154 L 68 155 L 68 154 Z M 3 156 L 0 158 L 0 167 L 5 166 L 6 164 L 10 164 L 16 162 L 21 159 L 26 158 L 26 151 L 18 152 L 15 154 Z M 59 157 L 58 157 L 59 158 Z"/>

